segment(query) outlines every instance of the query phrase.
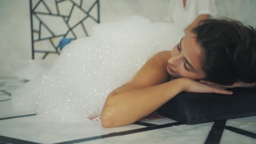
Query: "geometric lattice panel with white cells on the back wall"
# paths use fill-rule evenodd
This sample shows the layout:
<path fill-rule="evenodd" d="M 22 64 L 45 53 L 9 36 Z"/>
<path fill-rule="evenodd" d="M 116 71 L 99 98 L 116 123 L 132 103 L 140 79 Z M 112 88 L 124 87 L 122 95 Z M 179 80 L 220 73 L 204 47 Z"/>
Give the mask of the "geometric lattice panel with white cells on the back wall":
<path fill-rule="evenodd" d="M 60 55 L 60 40 L 89 36 L 100 23 L 99 0 L 30 0 L 32 59 Z"/>

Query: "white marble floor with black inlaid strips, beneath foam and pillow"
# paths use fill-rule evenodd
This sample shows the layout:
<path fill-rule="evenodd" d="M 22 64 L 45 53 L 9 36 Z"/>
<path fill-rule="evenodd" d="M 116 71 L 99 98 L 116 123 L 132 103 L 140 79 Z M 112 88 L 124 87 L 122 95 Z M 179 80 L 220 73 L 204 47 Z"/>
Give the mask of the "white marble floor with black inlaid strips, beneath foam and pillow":
<path fill-rule="evenodd" d="M 104 128 L 99 121 L 53 122 L 13 113 L 11 92 L 26 81 L 0 77 L 0 143 L 256 143 L 256 116 L 186 125 L 169 118 Z"/>

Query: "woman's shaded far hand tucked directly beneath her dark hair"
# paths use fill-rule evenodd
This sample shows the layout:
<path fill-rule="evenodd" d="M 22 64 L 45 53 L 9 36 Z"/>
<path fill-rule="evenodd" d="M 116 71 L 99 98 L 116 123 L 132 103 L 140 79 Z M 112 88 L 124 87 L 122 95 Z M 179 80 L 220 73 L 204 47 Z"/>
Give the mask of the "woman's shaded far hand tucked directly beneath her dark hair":
<path fill-rule="evenodd" d="M 209 86 L 220 88 L 220 89 L 226 89 L 226 88 L 232 88 L 232 87 L 255 87 L 255 82 L 254 83 L 245 83 L 245 82 L 242 82 L 242 81 L 237 81 L 237 82 L 233 83 L 233 85 L 229 85 L 229 86 L 219 85 L 219 84 L 214 83 L 214 82 L 203 81 L 203 80 L 200 80 L 200 82 L 206 83 Z"/>

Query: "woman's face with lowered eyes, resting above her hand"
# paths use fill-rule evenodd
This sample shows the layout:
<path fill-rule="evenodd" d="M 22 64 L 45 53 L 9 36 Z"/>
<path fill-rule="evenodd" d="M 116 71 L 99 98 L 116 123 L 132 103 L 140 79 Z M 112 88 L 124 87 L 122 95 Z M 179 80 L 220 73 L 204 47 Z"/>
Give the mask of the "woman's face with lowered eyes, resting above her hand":
<path fill-rule="evenodd" d="M 189 33 L 173 47 L 168 59 L 167 71 L 173 77 L 187 77 L 193 80 L 205 79 L 202 70 L 201 46 L 196 41 L 196 34 Z"/>

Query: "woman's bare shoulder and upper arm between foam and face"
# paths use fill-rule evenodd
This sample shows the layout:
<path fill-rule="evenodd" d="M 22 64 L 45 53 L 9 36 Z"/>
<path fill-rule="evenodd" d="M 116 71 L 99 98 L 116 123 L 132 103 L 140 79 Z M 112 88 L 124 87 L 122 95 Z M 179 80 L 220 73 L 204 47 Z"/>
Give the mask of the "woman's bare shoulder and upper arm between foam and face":
<path fill-rule="evenodd" d="M 171 51 L 161 51 L 150 58 L 129 83 L 115 89 L 112 93 L 129 91 L 131 89 L 145 88 L 159 85 L 169 80 L 167 73 L 167 61 L 171 57 Z"/>

